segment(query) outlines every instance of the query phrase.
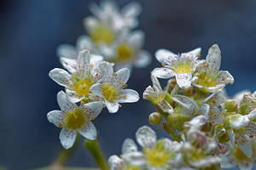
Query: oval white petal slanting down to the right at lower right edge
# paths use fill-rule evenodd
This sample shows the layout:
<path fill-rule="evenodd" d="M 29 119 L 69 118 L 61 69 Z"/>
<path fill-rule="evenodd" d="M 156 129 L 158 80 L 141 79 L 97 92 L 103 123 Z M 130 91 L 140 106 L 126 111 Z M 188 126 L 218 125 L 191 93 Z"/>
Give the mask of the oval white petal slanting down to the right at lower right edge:
<path fill-rule="evenodd" d="M 252 144 L 245 138 L 245 136 L 238 134 L 236 136 L 237 146 L 241 149 L 241 151 L 247 156 L 253 156 L 253 147 Z"/>

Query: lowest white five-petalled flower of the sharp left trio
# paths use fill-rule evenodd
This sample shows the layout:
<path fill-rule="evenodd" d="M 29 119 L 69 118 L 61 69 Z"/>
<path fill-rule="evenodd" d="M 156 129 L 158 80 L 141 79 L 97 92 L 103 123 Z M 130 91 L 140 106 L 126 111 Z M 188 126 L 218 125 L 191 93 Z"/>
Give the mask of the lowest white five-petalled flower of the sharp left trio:
<path fill-rule="evenodd" d="M 68 101 L 67 95 L 63 91 L 57 94 L 57 101 L 61 111 L 50 111 L 47 118 L 56 127 L 62 127 L 60 139 L 65 149 L 73 146 L 77 132 L 86 139 L 96 139 L 96 127 L 90 121 L 101 113 L 101 102 L 77 106 Z"/>

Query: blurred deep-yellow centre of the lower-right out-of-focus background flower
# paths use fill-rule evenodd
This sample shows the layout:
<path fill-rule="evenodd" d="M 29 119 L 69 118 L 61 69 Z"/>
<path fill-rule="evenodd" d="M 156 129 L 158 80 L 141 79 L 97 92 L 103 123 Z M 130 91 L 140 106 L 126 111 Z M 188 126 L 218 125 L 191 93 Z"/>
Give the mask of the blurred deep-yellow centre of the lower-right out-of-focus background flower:
<path fill-rule="evenodd" d="M 131 59 L 133 57 L 133 50 L 132 48 L 126 43 L 120 43 L 117 48 L 117 59 L 124 61 Z"/>

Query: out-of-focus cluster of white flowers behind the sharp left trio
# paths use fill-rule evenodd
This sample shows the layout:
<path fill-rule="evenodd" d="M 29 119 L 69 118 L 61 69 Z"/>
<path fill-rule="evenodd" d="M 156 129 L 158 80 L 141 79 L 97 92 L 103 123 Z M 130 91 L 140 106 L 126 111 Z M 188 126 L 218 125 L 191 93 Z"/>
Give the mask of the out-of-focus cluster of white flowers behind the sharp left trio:
<path fill-rule="evenodd" d="M 84 18 L 88 35 L 78 38 L 76 45 L 62 44 L 57 48 L 62 65 L 75 63 L 80 50 L 89 49 L 105 60 L 115 63 L 115 70 L 143 68 L 150 64 L 150 54 L 143 50 L 143 31 L 133 31 L 138 26 L 137 16 L 141 13 L 138 3 L 129 3 L 119 8 L 113 1 L 102 1 L 90 5 L 93 16 Z"/>

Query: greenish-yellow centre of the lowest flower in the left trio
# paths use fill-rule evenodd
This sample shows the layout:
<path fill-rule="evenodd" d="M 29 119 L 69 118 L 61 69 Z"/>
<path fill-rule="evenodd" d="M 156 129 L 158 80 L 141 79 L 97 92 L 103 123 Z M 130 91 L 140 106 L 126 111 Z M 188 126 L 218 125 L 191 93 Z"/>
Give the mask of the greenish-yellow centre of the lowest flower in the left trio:
<path fill-rule="evenodd" d="M 85 117 L 85 113 L 81 108 L 78 107 L 66 113 L 66 118 L 63 124 L 68 128 L 76 130 L 84 127 L 85 122 L 88 122 L 88 120 Z"/>

